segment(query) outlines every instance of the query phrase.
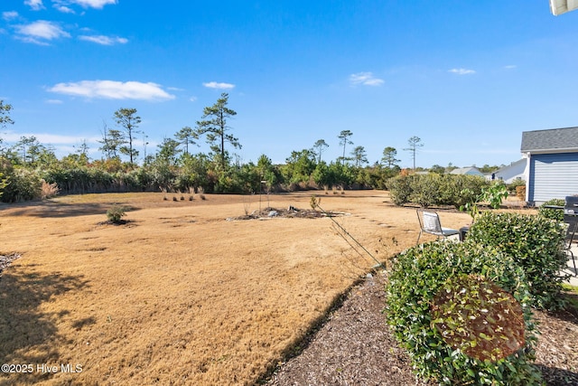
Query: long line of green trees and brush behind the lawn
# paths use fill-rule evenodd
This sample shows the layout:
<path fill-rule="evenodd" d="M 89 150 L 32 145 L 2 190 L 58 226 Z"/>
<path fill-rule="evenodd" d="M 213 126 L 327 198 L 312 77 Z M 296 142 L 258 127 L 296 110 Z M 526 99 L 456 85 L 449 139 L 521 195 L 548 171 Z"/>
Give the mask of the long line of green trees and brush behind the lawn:
<path fill-rule="evenodd" d="M 0 128 L 13 125 L 12 106 L 0 100 Z M 329 146 L 324 139 L 311 148 L 294 150 L 284 165 L 274 165 L 267 155 L 256 163 L 241 164 L 229 150 L 240 149 L 238 137 L 228 126 L 237 112 L 228 108 L 228 94 L 203 109 L 196 127 L 182 127 L 165 137 L 152 154 L 146 154 L 142 119 L 135 108 L 119 108 L 113 115 L 115 128 L 105 124 L 98 141 L 100 159 L 90 159 L 83 142 L 74 153 L 55 155 L 52 146 L 36 137 L 21 137 L 8 146 L 0 137 L 0 200 L 15 202 L 42 196 L 42 186 L 61 193 L 106 193 L 164 191 L 205 193 L 259 193 L 299 189 L 386 188 L 386 182 L 401 172 L 396 148 L 387 146 L 380 162 L 369 165 L 363 146 L 353 146 L 350 130 L 337 136 L 342 149 L 334 161 L 324 161 Z M 144 138 L 144 156 L 135 146 Z M 204 139 L 208 153 L 191 150 Z M 409 140 L 415 154 L 423 146 L 419 137 Z M 349 152 L 348 152 L 349 150 Z M 406 149 L 405 149 L 406 150 Z M 142 162 L 136 163 L 140 159 Z M 50 189 L 49 189 L 50 190 Z"/>

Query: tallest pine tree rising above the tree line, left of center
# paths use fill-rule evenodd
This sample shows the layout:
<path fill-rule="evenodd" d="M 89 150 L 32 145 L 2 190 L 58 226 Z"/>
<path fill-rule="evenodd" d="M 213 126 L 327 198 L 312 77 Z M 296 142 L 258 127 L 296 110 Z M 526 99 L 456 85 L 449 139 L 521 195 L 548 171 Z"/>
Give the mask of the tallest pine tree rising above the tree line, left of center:
<path fill-rule="evenodd" d="M 228 134 L 231 127 L 227 126 L 227 119 L 237 115 L 237 112 L 227 108 L 228 93 L 223 92 L 217 103 L 203 109 L 202 119 L 197 121 L 198 135 L 206 135 L 210 149 L 219 155 L 219 165 L 224 171 L 226 167 L 225 142 L 235 148 L 241 148 L 238 138 Z M 209 118 L 209 119 L 207 119 Z"/>

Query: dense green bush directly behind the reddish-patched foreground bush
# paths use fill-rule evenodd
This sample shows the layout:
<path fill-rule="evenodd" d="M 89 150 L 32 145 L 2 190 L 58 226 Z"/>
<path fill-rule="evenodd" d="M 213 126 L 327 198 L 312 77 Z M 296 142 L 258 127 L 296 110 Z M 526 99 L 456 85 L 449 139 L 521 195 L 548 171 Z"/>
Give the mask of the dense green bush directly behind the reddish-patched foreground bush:
<path fill-rule="evenodd" d="M 483 212 L 468 233 L 470 240 L 495 247 L 524 268 L 533 306 L 556 309 L 564 306 L 560 291 L 567 277 L 564 224 L 517 213 Z"/>

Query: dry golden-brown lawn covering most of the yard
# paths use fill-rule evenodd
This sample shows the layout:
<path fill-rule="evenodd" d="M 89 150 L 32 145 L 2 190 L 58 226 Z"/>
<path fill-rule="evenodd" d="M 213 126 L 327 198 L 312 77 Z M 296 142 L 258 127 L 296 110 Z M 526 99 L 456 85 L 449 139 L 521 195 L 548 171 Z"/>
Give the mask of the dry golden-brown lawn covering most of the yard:
<path fill-rule="evenodd" d="M 0 254 L 23 255 L 0 278 L 0 358 L 34 366 L 0 384 L 253 384 L 375 264 L 328 218 L 225 221 L 244 213 L 242 196 L 163 196 L 0 206 Z M 305 209 L 310 198 L 268 204 Z M 103 223 L 113 204 L 132 208 L 126 224 Z M 350 213 L 335 220 L 380 260 L 415 243 L 415 210 L 387 193 L 325 196 L 322 206 Z M 470 221 L 441 216 L 448 227 Z M 42 363 L 59 371 L 42 373 Z"/>

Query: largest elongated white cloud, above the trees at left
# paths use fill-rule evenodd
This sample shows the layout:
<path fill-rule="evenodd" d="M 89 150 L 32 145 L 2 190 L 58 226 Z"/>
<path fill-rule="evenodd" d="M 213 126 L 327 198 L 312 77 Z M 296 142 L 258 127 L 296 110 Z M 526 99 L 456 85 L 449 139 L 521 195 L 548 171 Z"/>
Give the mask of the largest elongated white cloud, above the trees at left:
<path fill-rule="evenodd" d="M 100 99 L 167 100 L 175 98 L 156 83 L 140 81 L 81 80 L 58 83 L 48 90 L 76 97 Z"/>

